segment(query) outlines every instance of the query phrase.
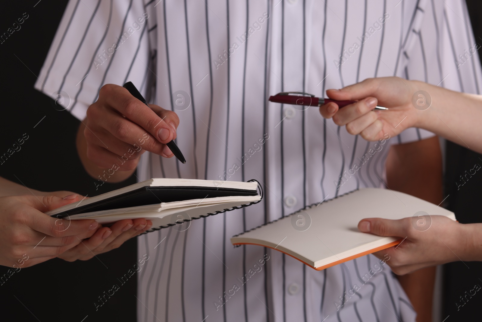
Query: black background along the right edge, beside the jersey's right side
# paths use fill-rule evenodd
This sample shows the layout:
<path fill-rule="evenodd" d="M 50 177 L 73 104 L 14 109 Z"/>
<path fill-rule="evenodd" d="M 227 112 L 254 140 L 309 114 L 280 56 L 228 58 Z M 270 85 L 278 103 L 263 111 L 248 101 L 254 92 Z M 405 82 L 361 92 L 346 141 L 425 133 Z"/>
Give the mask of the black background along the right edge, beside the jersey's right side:
<path fill-rule="evenodd" d="M 474 29 L 475 41 L 482 44 L 482 2 L 480 0 L 467 0 L 470 20 Z M 479 55 L 481 53 L 479 52 Z M 482 107 L 481 107 L 482 108 Z M 482 120 L 481 120 L 482 121 Z M 472 152 L 452 142 L 447 142 L 445 170 L 445 196 L 447 197 L 447 209 L 454 211 L 460 223 L 482 222 L 481 197 L 482 197 L 482 173 L 476 172 L 467 183 L 457 188 L 455 182 L 461 182 L 460 175 L 474 168 L 475 164 L 482 166 L 482 155 Z M 482 234 L 482 232 L 481 232 Z M 463 304 L 460 296 L 469 294 L 476 284 L 482 287 L 482 263 L 481 262 L 455 262 L 444 265 L 444 292 L 443 292 L 443 316 L 449 316 L 450 321 L 481 321 L 480 305 L 482 294 L 477 292 L 463 307 L 457 309 L 456 303 Z"/>

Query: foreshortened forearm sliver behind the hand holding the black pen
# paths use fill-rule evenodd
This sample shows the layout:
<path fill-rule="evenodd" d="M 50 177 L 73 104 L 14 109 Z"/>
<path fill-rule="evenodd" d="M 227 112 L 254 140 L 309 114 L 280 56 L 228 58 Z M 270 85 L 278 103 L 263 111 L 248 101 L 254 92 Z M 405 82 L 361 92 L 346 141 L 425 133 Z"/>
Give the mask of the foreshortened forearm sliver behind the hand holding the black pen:
<path fill-rule="evenodd" d="M 114 171 L 113 174 L 108 173 L 108 175 L 106 175 L 107 173 L 106 171 L 108 169 L 99 168 L 94 162 L 92 162 L 87 157 L 87 141 L 85 140 L 85 137 L 84 137 L 84 129 L 85 129 L 85 120 L 84 122 L 80 123 L 79 130 L 77 132 L 76 145 L 77 145 L 77 153 L 79 154 L 80 161 L 82 162 L 82 165 L 84 166 L 85 170 L 89 175 L 91 175 L 94 179 L 113 183 L 113 182 L 124 181 L 134 173 L 135 169 L 130 171 L 116 170 Z"/>

